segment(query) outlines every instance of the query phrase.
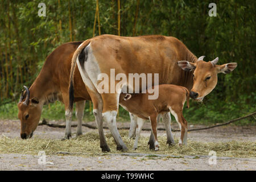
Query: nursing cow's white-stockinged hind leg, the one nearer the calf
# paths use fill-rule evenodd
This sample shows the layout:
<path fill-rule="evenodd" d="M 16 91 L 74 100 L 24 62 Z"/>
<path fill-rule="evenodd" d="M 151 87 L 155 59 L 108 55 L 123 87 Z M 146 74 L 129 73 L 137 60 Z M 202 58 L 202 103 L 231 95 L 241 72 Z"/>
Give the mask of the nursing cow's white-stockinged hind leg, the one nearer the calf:
<path fill-rule="evenodd" d="M 101 94 L 103 100 L 102 117 L 107 122 L 110 132 L 113 135 L 117 150 L 128 150 L 125 143 L 117 130 L 117 110 L 119 102 L 119 93 L 103 93 Z"/>

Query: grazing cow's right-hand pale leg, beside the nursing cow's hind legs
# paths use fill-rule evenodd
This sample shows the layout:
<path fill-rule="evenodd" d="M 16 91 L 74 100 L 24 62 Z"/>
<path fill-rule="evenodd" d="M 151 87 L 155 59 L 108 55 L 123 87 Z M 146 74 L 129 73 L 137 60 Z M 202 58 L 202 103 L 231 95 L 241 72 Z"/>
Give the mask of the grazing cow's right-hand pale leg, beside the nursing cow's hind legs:
<path fill-rule="evenodd" d="M 76 102 L 77 128 L 76 136 L 82 135 L 82 118 L 84 117 L 85 101 Z"/>

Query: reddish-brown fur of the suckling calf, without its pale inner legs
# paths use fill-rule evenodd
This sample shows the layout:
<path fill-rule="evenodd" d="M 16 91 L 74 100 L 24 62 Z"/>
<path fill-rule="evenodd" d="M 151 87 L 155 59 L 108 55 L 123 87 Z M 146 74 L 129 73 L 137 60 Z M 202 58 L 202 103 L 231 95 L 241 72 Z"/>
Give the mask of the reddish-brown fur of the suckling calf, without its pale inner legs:
<path fill-rule="evenodd" d="M 149 93 L 135 94 L 129 100 L 124 100 L 126 94 L 121 94 L 119 104 L 139 118 L 150 118 L 155 140 L 157 140 L 156 117 L 158 114 L 170 111 L 169 108 L 171 107 L 179 118 L 177 122 L 181 125 L 181 141 L 183 141 L 184 133 L 187 131 L 187 121 L 183 117 L 182 111 L 185 101 L 189 107 L 188 89 L 183 86 L 166 84 L 159 85 L 158 88 L 159 97 L 156 100 L 148 100 Z"/>

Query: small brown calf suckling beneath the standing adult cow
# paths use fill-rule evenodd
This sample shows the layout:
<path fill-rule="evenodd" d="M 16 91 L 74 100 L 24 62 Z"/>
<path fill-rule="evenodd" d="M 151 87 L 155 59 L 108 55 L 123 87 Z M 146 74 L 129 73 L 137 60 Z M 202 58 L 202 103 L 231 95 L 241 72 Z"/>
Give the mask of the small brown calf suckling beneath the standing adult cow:
<path fill-rule="evenodd" d="M 170 111 L 174 115 L 180 127 L 180 140 L 179 144 L 187 144 L 187 121 L 183 117 L 183 105 L 187 100 L 187 107 L 189 107 L 189 91 L 183 86 L 177 85 L 158 85 L 159 97 L 156 100 L 148 100 L 150 93 L 139 94 L 121 94 L 119 104 L 130 113 L 135 114 L 137 119 L 136 139 L 134 143 L 134 150 L 138 146 L 138 139 L 141 133 L 143 123 L 146 119 L 150 119 L 152 133 L 155 139 L 155 151 L 159 150 L 158 137 L 156 132 L 157 121 L 160 119 L 160 114 L 166 126 L 167 143 L 174 143 L 171 127 L 170 127 Z M 166 114 L 167 113 L 167 114 Z M 166 115 L 166 117 L 163 117 Z M 164 119 L 166 118 L 166 119 Z M 169 124 L 168 121 L 169 121 Z M 168 140 L 172 141 L 168 141 Z"/>

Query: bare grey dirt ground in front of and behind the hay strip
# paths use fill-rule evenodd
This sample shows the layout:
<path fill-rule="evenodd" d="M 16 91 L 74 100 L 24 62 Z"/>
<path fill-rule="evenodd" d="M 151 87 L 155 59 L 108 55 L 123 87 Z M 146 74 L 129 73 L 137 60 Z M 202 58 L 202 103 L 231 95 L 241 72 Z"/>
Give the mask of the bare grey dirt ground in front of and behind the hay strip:
<path fill-rule="evenodd" d="M 64 124 L 61 121 L 51 121 Z M 75 123 L 75 122 L 74 122 Z M 95 125 L 94 122 L 90 122 Z M 119 122 L 118 127 L 129 126 L 129 122 Z M 150 124 L 145 123 L 144 128 Z M 159 127 L 164 127 L 159 123 Z M 200 125 L 189 125 L 188 129 L 203 127 Z M 172 129 L 177 129 L 176 123 L 172 122 Z M 89 131 L 96 131 L 82 127 L 85 134 Z M 222 126 L 209 130 L 191 131 L 188 138 L 200 142 L 226 142 L 229 140 L 256 141 L 255 126 Z M 72 127 L 72 135 L 75 137 L 76 128 Z M 105 130 L 108 133 L 109 130 Z M 9 138 L 19 137 L 19 121 L 0 121 L 0 135 Z M 143 136 L 149 136 L 150 131 L 142 131 Z M 165 131 L 158 131 L 159 136 L 165 135 Z M 179 132 L 174 137 L 179 137 Z M 40 138 L 61 139 L 64 136 L 64 129 L 48 126 L 38 126 L 34 136 Z M 99 144 L 100 146 L 100 144 Z M 256 157 L 256 154 L 255 154 Z M 148 157 L 147 155 L 125 156 L 125 155 L 102 155 L 97 157 L 82 157 L 72 155 L 49 155 L 46 162 L 52 164 L 39 164 L 38 155 L 22 154 L 0 154 L 0 170 L 256 170 L 256 158 L 254 159 L 218 159 L 217 163 L 210 165 L 208 158 L 167 158 Z"/>

